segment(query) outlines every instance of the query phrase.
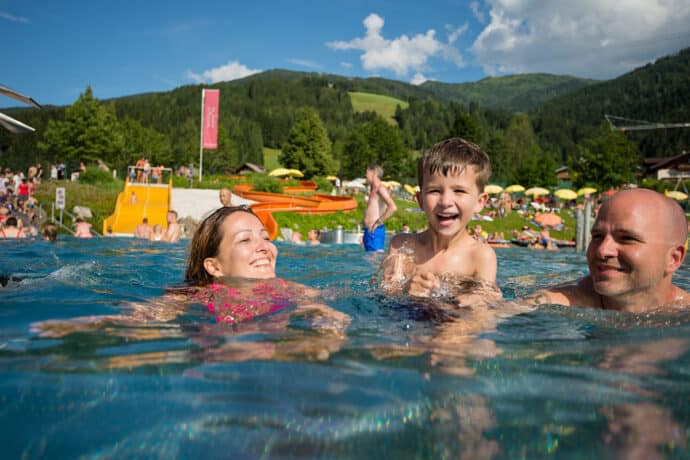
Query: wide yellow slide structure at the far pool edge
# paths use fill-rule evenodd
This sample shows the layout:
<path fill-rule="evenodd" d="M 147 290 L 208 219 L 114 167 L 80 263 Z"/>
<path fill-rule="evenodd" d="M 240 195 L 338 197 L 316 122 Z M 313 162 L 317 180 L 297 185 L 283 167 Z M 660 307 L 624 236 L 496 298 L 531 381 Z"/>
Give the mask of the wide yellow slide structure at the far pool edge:
<path fill-rule="evenodd" d="M 152 227 L 160 224 L 167 229 L 171 193 L 172 181 L 168 184 L 144 184 L 130 182 L 128 178 L 125 190 L 117 196 L 115 212 L 103 221 L 103 234 L 107 235 L 110 227 L 114 235 L 134 235 L 134 229 L 144 217 Z"/>

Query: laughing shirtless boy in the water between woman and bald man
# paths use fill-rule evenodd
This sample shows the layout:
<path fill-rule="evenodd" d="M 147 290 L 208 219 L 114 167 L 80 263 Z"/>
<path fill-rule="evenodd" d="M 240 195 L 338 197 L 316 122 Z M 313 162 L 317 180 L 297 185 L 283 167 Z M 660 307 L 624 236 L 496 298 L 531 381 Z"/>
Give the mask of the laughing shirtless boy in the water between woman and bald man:
<path fill-rule="evenodd" d="M 429 297 L 442 279 L 470 281 L 500 298 L 496 287 L 496 253 L 467 229 L 472 215 L 482 210 L 484 186 L 491 175 L 489 157 L 475 144 L 452 138 L 427 150 L 419 160 L 417 201 L 428 221 L 422 233 L 396 235 L 381 264 L 382 287 Z M 411 279 L 417 282 L 407 285 Z M 469 294 L 469 295 L 468 295 Z M 474 302 L 463 292 L 461 303 Z"/>

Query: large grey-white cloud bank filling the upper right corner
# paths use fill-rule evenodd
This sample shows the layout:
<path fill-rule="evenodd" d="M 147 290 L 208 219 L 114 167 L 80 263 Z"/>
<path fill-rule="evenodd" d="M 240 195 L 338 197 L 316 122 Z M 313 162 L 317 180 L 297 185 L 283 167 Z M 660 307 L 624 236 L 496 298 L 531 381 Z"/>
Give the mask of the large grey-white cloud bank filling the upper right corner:
<path fill-rule="evenodd" d="M 687 0 L 486 3 L 490 21 L 472 51 L 489 75 L 548 72 L 613 78 L 690 42 Z"/>

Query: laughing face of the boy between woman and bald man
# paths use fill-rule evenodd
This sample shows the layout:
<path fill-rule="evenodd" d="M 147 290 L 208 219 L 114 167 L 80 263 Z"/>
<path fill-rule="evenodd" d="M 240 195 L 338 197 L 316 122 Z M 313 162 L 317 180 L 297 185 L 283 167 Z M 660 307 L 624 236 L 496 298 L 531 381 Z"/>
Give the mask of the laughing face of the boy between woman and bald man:
<path fill-rule="evenodd" d="M 479 193 L 477 174 L 468 166 L 460 174 L 424 174 L 424 186 L 417 194 L 429 228 L 444 236 L 464 231 L 475 212 L 486 203 L 486 193 Z"/>

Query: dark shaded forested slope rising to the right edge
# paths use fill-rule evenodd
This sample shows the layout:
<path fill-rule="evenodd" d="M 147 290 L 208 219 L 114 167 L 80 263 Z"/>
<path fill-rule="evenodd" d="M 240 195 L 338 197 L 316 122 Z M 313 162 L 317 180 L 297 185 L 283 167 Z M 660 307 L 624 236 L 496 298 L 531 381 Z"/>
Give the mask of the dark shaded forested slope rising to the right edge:
<path fill-rule="evenodd" d="M 605 114 L 652 123 L 690 122 L 690 48 L 614 80 L 553 98 L 531 113 L 542 146 L 566 157 L 605 122 Z M 690 129 L 626 134 L 644 157 L 690 150 Z"/>

